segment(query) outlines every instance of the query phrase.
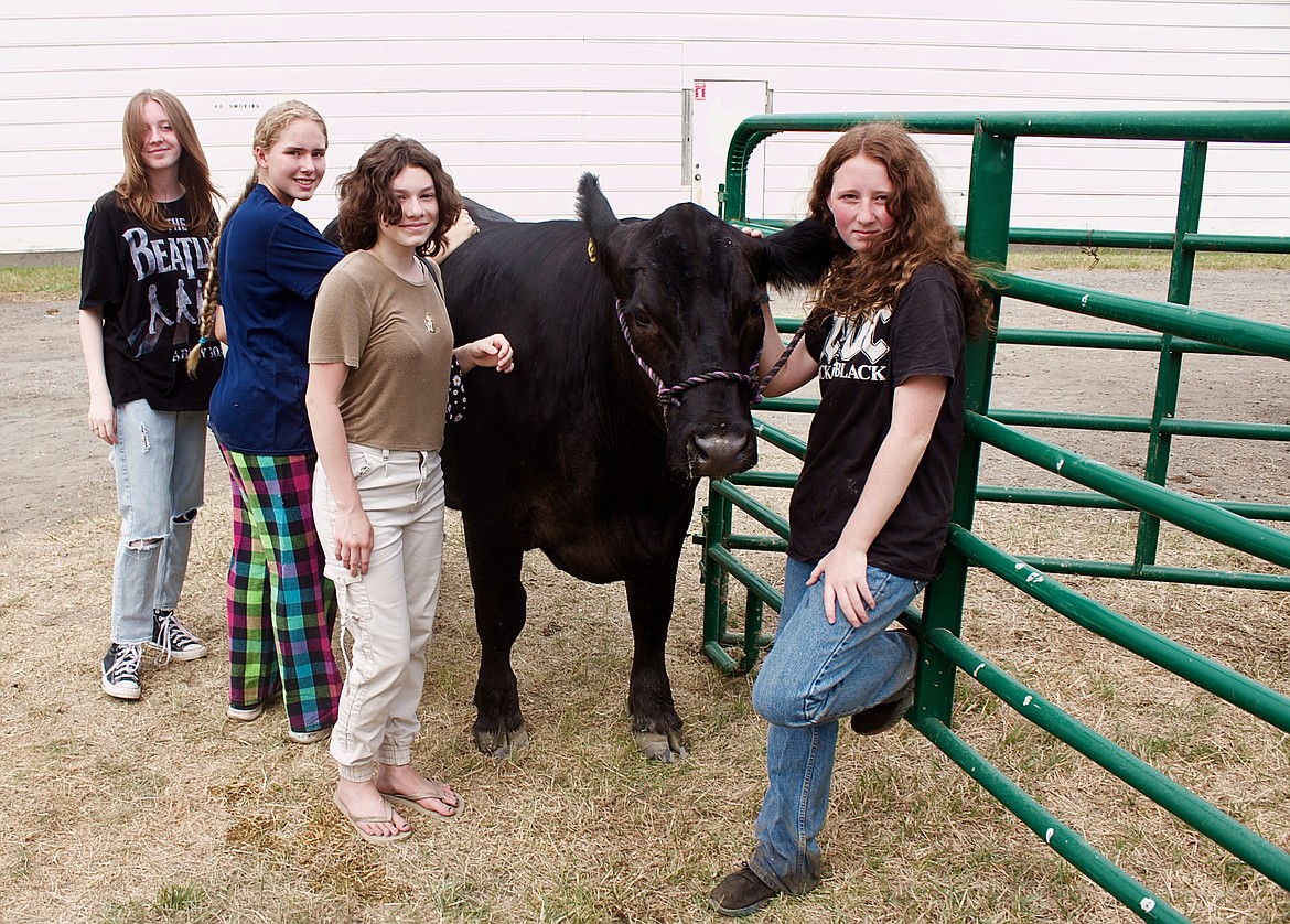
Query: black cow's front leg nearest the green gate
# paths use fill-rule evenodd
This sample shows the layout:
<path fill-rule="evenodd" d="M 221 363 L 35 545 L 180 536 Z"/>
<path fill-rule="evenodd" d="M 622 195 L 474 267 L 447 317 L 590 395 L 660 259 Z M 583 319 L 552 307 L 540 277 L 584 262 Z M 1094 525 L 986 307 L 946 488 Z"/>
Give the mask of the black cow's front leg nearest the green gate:
<path fill-rule="evenodd" d="M 636 648 L 627 710 L 632 716 L 632 737 L 650 760 L 672 763 L 685 758 L 681 716 L 672 702 L 672 681 L 667 678 L 663 649 L 672 621 L 676 596 L 676 568 L 681 550 L 654 574 L 627 581 L 627 610 L 632 619 Z"/>

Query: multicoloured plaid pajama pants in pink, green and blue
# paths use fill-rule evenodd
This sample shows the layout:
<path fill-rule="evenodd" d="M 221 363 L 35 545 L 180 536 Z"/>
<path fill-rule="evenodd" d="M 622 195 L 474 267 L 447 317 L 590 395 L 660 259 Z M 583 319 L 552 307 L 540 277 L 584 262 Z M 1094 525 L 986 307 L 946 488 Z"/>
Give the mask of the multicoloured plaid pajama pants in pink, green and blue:
<path fill-rule="evenodd" d="M 332 652 L 335 590 L 313 528 L 315 456 L 219 448 L 233 501 L 228 564 L 228 701 L 252 707 L 281 687 L 294 732 L 335 724 L 341 672 Z"/>

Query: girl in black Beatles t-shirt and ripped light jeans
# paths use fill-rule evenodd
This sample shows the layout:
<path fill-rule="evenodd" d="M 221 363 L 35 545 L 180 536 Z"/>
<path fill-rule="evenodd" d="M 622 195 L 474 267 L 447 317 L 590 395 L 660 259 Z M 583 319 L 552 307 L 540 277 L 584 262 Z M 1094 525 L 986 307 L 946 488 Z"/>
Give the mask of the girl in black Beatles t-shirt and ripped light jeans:
<path fill-rule="evenodd" d="M 89 426 L 112 447 L 121 537 L 112 572 L 112 636 L 103 692 L 138 699 L 143 647 L 174 661 L 206 647 L 174 616 L 203 503 L 206 403 L 221 350 L 203 351 L 197 317 L 218 228 L 206 155 L 187 110 L 141 90 L 123 120 L 125 173 L 85 223 L 80 339 Z"/>

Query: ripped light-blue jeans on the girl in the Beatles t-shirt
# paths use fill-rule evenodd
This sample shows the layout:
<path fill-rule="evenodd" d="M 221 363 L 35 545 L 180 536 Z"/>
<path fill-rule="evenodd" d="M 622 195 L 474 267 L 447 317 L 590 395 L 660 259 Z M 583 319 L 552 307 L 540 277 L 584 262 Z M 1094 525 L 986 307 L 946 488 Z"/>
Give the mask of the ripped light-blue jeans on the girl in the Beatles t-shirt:
<path fill-rule="evenodd" d="M 116 506 L 121 538 L 112 569 L 112 641 L 152 639 L 152 610 L 174 609 L 203 502 L 206 412 L 116 408 Z"/>

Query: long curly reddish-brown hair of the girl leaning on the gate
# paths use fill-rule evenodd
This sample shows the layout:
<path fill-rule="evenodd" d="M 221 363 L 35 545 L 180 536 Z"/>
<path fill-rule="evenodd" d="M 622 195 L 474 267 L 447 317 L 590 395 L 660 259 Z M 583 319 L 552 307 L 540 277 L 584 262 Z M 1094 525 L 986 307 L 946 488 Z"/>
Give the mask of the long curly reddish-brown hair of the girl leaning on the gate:
<path fill-rule="evenodd" d="M 833 176 L 858 156 L 882 164 L 891 179 L 886 204 L 891 227 L 863 253 L 842 243 L 828 208 Z M 837 250 L 828 275 L 811 296 L 814 321 L 835 314 L 867 316 L 882 307 L 894 308 L 900 289 L 916 270 L 940 263 L 958 289 L 968 334 L 975 337 L 989 326 L 993 303 L 962 250 L 931 165 L 903 125 L 864 123 L 833 142 L 815 170 L 808 208 L 813 218 L 829 228 Z"/>

